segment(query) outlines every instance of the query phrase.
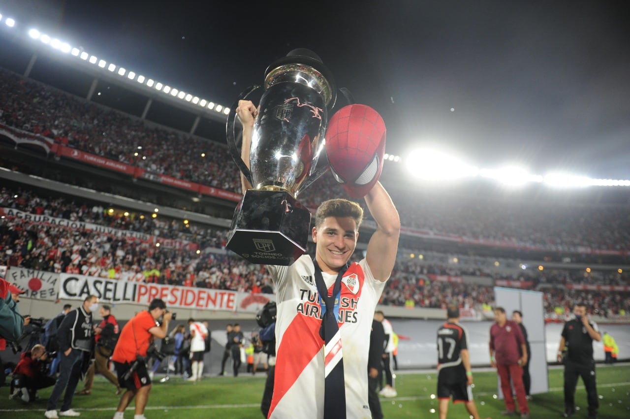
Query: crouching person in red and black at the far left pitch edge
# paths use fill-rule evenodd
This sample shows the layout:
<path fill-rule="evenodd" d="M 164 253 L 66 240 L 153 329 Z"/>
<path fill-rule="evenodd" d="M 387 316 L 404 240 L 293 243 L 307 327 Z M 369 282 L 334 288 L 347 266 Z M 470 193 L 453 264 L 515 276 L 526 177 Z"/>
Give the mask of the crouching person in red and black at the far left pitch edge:
<path fill-rule="evenodd" d="M 30 351 L 23 352 L 20 362 L 13 370 L 9 398 L 21 398 L 28 403 L 35 399 L 37 390 L 54 386 L 55 379 L 46 374 L 47 364 L 50 361 L 49 353 L 43 345 L 35 345 Z"/>

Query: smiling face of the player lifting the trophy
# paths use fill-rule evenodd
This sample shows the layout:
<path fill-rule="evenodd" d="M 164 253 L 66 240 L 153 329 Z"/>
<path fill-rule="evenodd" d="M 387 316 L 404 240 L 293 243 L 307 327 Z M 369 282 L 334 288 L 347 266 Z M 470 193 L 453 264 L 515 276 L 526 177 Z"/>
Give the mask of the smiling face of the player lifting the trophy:
<path fill-rule="evenodd" d="M 337 273 L 357 247 L 357 222 L 352 217 L 326 217 L 312 230 L 322 272 Z"/>

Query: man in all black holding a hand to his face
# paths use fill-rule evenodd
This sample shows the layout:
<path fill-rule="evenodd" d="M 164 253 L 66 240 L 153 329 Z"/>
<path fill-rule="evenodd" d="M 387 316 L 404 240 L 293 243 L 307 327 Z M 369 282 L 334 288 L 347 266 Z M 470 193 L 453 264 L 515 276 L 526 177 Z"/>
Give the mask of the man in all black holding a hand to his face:
<path fill-rule="evenodd" d="M 562 338 L 558 347 L 558 362 L 563 361 L 564 348 L 564 414 L 565 418 L 575 413 L 575 387 L 578 377 L 582 377 L 588 398 L 588 419 L 597 419 L 599 401 L 595 386 L 595 360 L 593 340 L 602 340 L 597 324 L 587 317 L 587 307 L 583 303 L 573 307 L 575 318 L 564 323 Z"/>

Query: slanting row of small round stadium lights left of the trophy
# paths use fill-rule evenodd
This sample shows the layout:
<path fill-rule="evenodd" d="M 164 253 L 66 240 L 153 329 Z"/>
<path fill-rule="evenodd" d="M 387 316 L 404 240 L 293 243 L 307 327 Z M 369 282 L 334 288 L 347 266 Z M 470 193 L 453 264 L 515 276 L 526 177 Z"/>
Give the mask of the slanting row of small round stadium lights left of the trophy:
<path fill-rule="evenodd" d="M 16 25 L 16 21 L 13 18 L 6 18 L 3 14 L 0 13 L 0 22 L 4 22 L 6 26 L 9 28 L 13 28 Z M 193 105 L 199 105 L 202 108 L 207 108 L 209 110 L 214 110 L 217 113 L 223 113 L 224 115 L 228 115 L 230 113 L 230 108 L 224 107 L 222 105 L 215 105 L 214 102 L 209 102 L 207 100 L 200 99 L 198 96 L 190 95 L 189 93 L 185 93 L 180 91 L 179 89 L 171 88 L 168 85 L 164 85 L 163 83 L 159 83 L 154 81 L 153 79 L 148 79 L 145 76 L 139 75 L 133 71 L 127 72 L 127 69 L 124 67 L 118 67 L 116 64 L 108 63 L 106 60 L 98 59 L 95 55 L 90 55 L 86 51 L 81 51 L 76 47 L 71 47 L 69 43 L 62 42 L 57 38 L 50 37 L 46 33 L 41 33 L 39 30 L 35 28 L 31 28 L 27 32 L 28 37 L 33 40 L 39 40 L 45 45 L 49 45 L 55 50 L 59 50 L 66 54 L 71 54 L 73 57 L 77 57 L 81 60 L 87 61 L 90 64 L 94 64 L 101 69 L 107 69 L 110 72 L 116 72 L 119 76 L 126 76 L 130 80 L 137 81 L 140 84 L 145 84 L 148 88 L 155 87 L 159 91 L 163 91 L 165 94 L 170 94 L 173 97 L 176 97 L 180 100 L 185 100 L 187 102 L 192 102 Z"/>

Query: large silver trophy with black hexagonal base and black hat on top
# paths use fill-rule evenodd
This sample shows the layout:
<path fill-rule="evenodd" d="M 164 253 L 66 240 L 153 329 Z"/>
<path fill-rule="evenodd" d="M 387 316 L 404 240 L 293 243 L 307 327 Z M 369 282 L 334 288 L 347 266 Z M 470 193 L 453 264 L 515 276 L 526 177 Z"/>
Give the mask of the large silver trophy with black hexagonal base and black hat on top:
<path fill-rule="evenodd" d="M 249 88 L 239 100 L 258 89 Z M 227 145 L 253 186 L 234 211 L 227 248 L 252 263 L 291 265 L 306 252 L 311 212 L 297 201 L 328 169 L 320 161 L 328 107 L 336 100 L 333 77 L 314 52 L 297 49 L 265 71 L 248 169 L 236 144 L 238 100 L 227 118 Z M 325 155 L 325 152 L 324 152 Z"/>

